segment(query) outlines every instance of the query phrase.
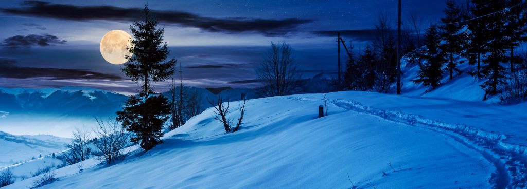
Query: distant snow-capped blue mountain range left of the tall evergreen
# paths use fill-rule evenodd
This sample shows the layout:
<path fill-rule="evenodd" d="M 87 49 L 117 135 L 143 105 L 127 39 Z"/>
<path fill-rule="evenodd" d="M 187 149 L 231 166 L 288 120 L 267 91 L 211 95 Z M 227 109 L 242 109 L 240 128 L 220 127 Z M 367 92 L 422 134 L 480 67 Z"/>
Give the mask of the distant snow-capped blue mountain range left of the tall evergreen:
<path fill-rule="evenodd" d="M 0 111 L 9 114 L 108 116 L 121 110 L 125 95 L 94 88 L 1 88 Z M 2 116 L 2 115 L 0 115 Z"/>

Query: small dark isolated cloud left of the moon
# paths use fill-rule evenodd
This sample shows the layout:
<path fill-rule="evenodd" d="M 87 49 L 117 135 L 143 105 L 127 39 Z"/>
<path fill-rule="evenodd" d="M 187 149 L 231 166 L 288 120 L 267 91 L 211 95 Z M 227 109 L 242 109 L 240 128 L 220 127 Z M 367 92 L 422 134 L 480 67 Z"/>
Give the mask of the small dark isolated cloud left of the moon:
<path fill-rule="evenodd" d="M 50 34 L 31 34 L 31 35 L 17 35 L 8 37 L 0 43 L 0 46 L 6 48 L 29 48 L 31 46 L 50 46 L 55 44 L 64 44 L 65 40 L 60 40 L 58 37 Z"/>

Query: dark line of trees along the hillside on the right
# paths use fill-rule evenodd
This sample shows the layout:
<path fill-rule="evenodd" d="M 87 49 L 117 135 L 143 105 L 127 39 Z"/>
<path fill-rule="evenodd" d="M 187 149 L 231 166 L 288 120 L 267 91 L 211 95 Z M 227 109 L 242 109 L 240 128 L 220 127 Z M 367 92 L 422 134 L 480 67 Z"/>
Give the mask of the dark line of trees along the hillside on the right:
<path fill-rule="evenodd" d="M 431 91 L 462 74 L 461 64 L 473 65 L 468 72 L 480 85 L 483 100 L 499 96 L 502 101 L 525 100 L 527 5 L 521 0 L 447 0 L 440 21 L 425 29 L 422 18 L 412 13 L 403 30 L 403 58 L 418 64 L 416 84 Z M 395 43 L 386 14 L 375 24 L 374 41 L 352 54 L 346 63 L 342 89 L 390 92 L 395 78 Z M 403 73 L 404 74 L 404 73 Z"/>

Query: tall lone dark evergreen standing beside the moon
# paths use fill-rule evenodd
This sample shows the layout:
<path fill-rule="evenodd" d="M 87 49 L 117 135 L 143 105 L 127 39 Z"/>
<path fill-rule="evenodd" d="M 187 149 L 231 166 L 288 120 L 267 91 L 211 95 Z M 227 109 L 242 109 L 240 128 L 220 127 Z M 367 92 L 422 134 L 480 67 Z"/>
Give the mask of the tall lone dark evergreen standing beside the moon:
<path fill-rule="evenodd" d="M 163 44 L 164 29 L 157 28 L 158 22 L 149 15 L 148 6 L 144 6 L 144 20 L 136 21 L 130 26 L 135 39 L 130 39 L 133 46 L 129 51 L 131 57 L 121 67 L 125 76 L 133 82 L 142 82 L 139 96 L 131 95 L 125 102 L 122 111 L 117 112 L 117 120 L 127 131 L 133 132 L 131 142 L 141 142 L 141 148 L 148 151 L 161 142 L 163 124 L 170 114 L 168 99 L 155 95 L 151 82 L 161 82 L 174 73 L 174 58 L 167 62 L 169 54 L 167 43 Z"/>

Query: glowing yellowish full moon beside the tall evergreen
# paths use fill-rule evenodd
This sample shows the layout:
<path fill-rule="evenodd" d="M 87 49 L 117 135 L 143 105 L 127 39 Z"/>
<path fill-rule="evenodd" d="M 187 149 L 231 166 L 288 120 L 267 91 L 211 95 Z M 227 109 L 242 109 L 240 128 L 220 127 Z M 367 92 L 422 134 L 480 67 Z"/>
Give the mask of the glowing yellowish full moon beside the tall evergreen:
<path fill-rule="evenodd" d="M 131 47 L 129 39 L 131 36 L 125 31 L 116 29 L 106 34 L 101 39 L 101 55 L 112 64 L 123 64 L 126 62 L 124 58 L 126 55 L 132 56 L 132 53 L 126 50 L 126 47 Z"/>

